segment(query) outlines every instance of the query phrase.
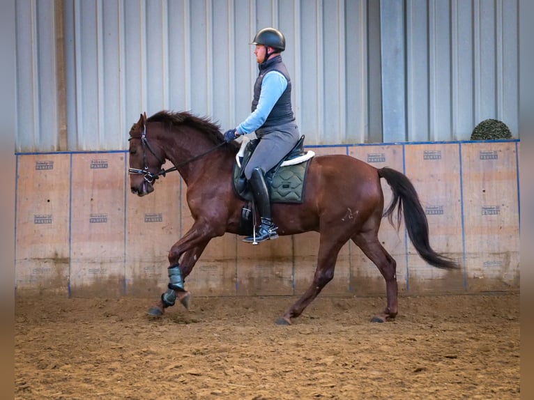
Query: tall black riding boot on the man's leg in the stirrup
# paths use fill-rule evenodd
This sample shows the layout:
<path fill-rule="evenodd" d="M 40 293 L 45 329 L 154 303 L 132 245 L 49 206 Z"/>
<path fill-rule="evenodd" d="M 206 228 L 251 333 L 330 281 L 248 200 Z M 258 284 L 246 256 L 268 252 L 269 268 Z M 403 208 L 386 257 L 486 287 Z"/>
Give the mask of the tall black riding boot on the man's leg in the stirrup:
<path fill-rule="evenodd" d="M 270 199 L 267 185 L 265 184 L 264 171 L 260 167 L 256 167 L 252 171 L 250 185 L 252 186 L 254 201 L 258 206 L 259 216 L 261 217 L 261 224 L 256 231 L 256 242 L 260 243 L 268 239 L 278 238 L 278 233 L 276 233 L 278 228 L 270 217 Z M 243 239 L 243 242 L 254 243 L 254 236 L 247 236 Z"/>

